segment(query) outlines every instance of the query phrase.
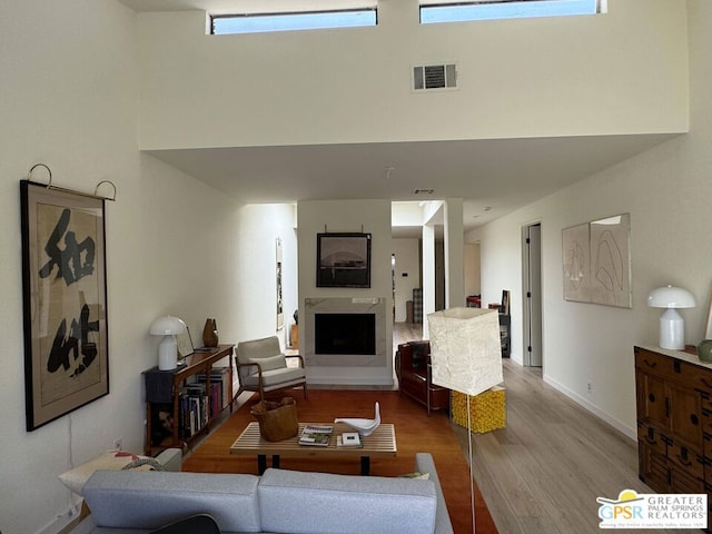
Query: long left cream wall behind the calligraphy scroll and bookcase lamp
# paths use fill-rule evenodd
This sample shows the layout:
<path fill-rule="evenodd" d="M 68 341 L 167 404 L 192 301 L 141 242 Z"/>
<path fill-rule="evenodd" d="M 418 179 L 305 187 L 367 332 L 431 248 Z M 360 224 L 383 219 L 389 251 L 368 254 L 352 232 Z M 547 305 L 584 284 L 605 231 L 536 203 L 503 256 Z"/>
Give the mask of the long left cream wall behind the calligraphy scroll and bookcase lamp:
<path fill-rule="evenodd" d="M 0 4 L 3 534 L 57 532 L 57 516 L 73 502 L 58 474 L 119 437 L 126 449 L 142 451 L 141 372 L 157 363 L 159 339 L 148 334 L 156 317 L 182 317 L 196 343 L 208 316 L 217 318 L 225 343 L 274 332 L 276 235 L 291 263 L 287 317 L 296 305 L 290 208 L 240 210 L 234 199 L 138 151 L 136 37 L 135 13 L 116 0 Z M 88 192 L 103 179 L 117 186 L 116 202 L 106 207 L 110 393 L 28 433 L 19 180 L 38 161 L 50 166 L 59 186 Z M 33 176 L 47 178 L 41 169 Z M 249 231 L 238 234 L 238 225 Z"/>

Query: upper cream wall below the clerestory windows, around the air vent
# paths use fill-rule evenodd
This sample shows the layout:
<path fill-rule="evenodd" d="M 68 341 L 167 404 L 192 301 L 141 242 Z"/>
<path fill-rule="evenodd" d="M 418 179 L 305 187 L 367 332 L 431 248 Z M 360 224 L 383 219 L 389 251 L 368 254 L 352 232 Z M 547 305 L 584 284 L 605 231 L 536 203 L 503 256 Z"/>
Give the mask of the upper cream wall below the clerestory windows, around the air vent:
<path fill-rule="evenodd" d="M 388 0 L 376 28 L 236 36 L 206 36 L 200 11 L 141 14 L 140 146 L 685 131 L 684 0 L 607 3 L 421 26 L 418 2 Z M 431 61 L 457 61 L 457 91 L 411 91 Z"/>

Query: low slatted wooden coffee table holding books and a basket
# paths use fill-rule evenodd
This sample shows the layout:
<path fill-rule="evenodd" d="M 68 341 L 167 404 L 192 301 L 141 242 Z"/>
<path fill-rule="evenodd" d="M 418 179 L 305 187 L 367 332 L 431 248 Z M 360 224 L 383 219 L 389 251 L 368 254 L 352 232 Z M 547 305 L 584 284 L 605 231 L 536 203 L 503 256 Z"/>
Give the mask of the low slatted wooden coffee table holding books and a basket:
<path fill-rule="evenodd" d="M 370 458 L 395 457 L 397 454 L 396 432 L 392 424 L 382 424 L 370 436 L 362 437 L 360 448 L 345 448 L 336 446 L 336 437 L 344 432 L 354 432 L 343 423 L 334 425 L 334 434 L 327 447 L 299 445 L 301 429 L 306 425 L 332 425 L 332 423 L 299 423 L 299 432 L 295 437 L 281 442 L 268 442 L 259 435 L 259 423 L 247 425 L 235 443 L 230 445 L 230 454 L 256 455 L 257 469 L 261 475 L 267 468 L 267 455 L 271 455 L 271 466 L 279 467 L 280 457 L 329 457 L 329 458 L 360 458 L 360 474 L 370 473 Z"/>

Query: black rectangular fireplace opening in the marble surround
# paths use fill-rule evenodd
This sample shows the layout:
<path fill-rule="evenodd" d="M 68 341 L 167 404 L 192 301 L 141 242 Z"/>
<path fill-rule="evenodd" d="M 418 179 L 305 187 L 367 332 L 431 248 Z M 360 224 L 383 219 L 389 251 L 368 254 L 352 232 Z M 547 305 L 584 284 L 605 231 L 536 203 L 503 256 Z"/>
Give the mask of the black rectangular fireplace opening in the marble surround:
<path fill-rule="evenodd" d="M 315 354 L 376 354 L 375 314 L 315 314 Z"/>

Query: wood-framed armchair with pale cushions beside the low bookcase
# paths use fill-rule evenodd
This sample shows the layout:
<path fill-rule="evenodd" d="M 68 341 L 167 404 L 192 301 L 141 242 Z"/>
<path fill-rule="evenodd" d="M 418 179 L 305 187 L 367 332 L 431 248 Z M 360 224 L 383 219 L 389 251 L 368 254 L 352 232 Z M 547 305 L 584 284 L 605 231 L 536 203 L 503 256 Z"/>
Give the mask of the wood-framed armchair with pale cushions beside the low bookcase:
<path fill-rule="evenodd" d="M 287 358 L 298 358 L 298 367 L 287 366 Z M 237 344 L 237 377 L 238 395 L 245 390 L 259 392 L 261 399 L 265 393 L 301 385 L 307 398 L 304 358 L 285 355 L 276 336 Z"/>

